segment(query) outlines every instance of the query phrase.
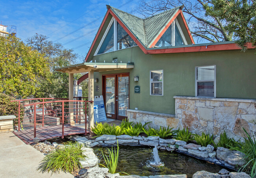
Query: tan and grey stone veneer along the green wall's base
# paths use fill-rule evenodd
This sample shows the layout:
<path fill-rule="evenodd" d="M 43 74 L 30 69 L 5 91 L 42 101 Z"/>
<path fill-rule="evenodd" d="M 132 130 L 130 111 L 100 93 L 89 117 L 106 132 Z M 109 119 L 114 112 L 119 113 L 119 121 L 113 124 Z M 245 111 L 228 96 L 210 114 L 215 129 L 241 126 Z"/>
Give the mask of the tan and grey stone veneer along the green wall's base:
<path fill-rule="evenodd" d="M 188 128 L 190 132 L 213 134 L 216 141 L 226 131 L 230 138 L 243 141 L 243 128 L 256 135 L 256 100 L 175 96 L 175 116 L 127 110 L 130 121 L 150 123 L 152 128 Z"/>

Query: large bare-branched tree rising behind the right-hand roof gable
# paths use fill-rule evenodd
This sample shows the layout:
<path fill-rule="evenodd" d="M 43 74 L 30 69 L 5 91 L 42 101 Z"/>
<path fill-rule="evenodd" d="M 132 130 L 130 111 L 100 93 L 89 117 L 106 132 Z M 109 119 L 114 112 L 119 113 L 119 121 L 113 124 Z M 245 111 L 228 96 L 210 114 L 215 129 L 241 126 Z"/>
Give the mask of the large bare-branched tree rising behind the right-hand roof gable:
<path fill-rule="evenodd" d="M 182 11 L 197 43 L 232 40 L 233 34 L 225 29 L 226 21 L 206 13 L 207 6 L 211 5 L 210 0 L 153 0 L 149 3 L 140 0 L 137 11 L 148 17 L 181 5 L 184 5 Z"/>

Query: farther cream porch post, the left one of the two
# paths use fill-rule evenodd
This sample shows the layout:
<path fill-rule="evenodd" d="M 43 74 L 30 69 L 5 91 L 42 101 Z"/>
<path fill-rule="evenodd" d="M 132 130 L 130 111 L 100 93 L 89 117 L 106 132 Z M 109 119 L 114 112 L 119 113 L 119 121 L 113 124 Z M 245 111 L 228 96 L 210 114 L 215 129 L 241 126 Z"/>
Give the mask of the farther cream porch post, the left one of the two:
<path fill-rule="evenodd" d="M 69 73 L 69 100 L 74 100 L 74 91 L 73 91 L 73 85 L 74 85 L 74 74 Z M 74 125 L 74 103 L 69 102 L 69 123 L 70 125 Z"/>

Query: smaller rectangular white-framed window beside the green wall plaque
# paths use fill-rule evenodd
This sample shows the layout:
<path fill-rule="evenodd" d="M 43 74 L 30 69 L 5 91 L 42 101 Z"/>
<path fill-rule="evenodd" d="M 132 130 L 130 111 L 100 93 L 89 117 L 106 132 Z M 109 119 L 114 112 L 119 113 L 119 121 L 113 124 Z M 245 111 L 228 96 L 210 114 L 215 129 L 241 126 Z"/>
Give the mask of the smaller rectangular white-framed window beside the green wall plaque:
<path fill-rule="evenodd" d="M 150 70 L 150 95 L 163 96 L 163 70 Z"/>

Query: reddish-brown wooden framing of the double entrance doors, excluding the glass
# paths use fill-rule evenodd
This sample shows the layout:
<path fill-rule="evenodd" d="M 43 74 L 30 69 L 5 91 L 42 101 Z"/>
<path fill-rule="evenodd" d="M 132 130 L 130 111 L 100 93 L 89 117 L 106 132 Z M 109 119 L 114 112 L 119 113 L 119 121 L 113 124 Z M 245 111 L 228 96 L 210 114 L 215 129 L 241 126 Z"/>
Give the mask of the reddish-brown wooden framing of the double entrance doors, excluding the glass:
<path fill-rule="evenodd" d="M 104 105 L 105 105 L 105 111 L 107 114 L 107 105 L 106 105 L 106 78 L 107 77 L 115 77 L 115 115 L 111 114 L 112 117 L 109 117 L 111 119 L 116 119 L 116 120 L 122 120 L 124 118 L 126 118 L 127 116 L 118 116 L 118 102 L 116 102 L 117 99 L 117 95 L 118 95 L 118 77 L 117 75 L 128 75 L 129 77 L 129 103 L 128 103 L 128 109 L 130 108 L 130 73 L 129 72 L 125 72 L 125 73 L 113 73 L 113 74 L 104 74 L 102 75 L 102 95 L 103 95 L 103 100 L 104 100 Z M 127 76 L 126 76 L 127 77 Z M 107 116 L 108 117 L 108 116 Z"/>

